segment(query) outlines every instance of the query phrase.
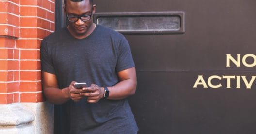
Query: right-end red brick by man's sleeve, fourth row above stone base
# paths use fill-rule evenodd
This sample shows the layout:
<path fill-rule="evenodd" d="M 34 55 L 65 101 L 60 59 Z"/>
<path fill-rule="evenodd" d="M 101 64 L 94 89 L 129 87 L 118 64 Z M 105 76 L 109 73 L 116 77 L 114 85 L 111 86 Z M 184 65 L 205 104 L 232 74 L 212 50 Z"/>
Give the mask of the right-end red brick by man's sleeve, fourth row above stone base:
<path fill-rule="evenodd" d="M 40 70 L 40 61 L 20 61 L 20 70 Z"/>

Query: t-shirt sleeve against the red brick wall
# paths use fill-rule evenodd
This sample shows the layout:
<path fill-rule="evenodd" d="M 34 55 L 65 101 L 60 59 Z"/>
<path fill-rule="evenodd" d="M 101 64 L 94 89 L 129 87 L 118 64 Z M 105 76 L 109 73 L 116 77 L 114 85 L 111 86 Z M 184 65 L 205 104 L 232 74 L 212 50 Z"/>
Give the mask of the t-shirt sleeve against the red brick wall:
<path fill-rule="evenodd" d="M 52 58 L 49 55 L 47 41 L 44 39 L 40 46 L 41 71 L 55 74 Z"/>

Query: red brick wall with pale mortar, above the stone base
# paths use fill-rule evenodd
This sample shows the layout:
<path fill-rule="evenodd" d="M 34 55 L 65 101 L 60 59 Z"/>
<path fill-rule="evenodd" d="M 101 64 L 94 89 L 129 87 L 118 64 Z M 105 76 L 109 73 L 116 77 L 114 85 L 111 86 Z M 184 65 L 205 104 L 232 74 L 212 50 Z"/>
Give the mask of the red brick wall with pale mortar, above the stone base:
<path fill-rule="evenodd" d="M 40 42 L 55 0 L 0 0 L 0 104 L 42 102 Z"/>

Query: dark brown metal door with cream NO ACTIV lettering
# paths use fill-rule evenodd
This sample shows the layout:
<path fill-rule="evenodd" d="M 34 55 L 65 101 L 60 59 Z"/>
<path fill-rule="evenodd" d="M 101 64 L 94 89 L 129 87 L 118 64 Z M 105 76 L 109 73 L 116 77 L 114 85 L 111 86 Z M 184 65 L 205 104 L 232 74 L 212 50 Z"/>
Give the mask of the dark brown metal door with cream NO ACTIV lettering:
<path fill-rule="evenodd" d="M 137 69 L 129 102 L 140 134 L 256 133 L 255 0 L 94 1 L 105 18 L 179 18 L 170 32 L 123 31 Z"/>

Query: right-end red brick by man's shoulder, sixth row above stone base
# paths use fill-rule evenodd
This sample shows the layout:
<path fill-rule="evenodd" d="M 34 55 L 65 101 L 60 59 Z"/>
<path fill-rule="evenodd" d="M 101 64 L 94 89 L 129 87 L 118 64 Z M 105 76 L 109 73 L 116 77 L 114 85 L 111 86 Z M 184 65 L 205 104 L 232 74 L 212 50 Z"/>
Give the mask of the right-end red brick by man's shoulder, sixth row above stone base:
<path fill-rule="evenodd" d="M 17 48 L 27 48 L 27 49 L 39 49 L 41 44 L 41 40 L 38 39 L 19 39 L 16 40 L 16 47 Z"/>

